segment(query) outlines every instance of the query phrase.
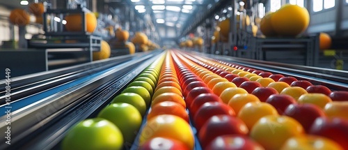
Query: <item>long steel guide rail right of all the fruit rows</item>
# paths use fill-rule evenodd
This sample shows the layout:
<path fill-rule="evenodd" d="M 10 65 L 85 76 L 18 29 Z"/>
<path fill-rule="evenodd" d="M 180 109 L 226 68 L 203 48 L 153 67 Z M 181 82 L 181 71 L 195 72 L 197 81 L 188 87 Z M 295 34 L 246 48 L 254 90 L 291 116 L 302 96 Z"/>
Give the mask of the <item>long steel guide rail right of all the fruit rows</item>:
<path fill-rule="evenodd" d="M 217 56 L 214 54 L 203 54 L 191 52 L 191 54 L 205 57 L 205 59 L 217 59 L 217 62 L 225 61 L 235 63 L 249 68 L 279 73 L 285 76 L 294 76 L 299 80 L 309 80 L 314 84 L 322 84 L 336 91 L 348 91 L 348 71 L 334 70 L 329 68 L 317 68 L 311 66 L 299 66 L 271 61 L 258 61 L 253 59 L 242 59 L 237 57 Z"/>

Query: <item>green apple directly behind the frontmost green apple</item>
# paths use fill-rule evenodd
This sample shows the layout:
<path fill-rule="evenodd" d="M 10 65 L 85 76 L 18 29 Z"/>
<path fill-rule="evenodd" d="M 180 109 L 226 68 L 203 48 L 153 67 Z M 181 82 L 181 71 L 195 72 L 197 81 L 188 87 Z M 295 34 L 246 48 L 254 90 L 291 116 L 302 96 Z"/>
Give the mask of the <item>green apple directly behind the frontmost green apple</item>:
<path fill-rule="evenodd" d="M 113 103 L 98 114 L 120 128 L 125 145 L 131 145 L 139 132 L 143 118 L 136 107 L 128 103 Z"/>

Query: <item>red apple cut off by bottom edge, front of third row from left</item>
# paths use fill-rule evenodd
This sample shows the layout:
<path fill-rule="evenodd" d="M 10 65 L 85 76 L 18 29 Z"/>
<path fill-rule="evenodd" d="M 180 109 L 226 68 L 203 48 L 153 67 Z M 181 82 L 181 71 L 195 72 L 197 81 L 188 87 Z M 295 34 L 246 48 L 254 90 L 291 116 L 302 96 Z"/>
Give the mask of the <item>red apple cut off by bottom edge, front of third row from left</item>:
<path fill-rule="evenodd" d="M 221 135 L 210 142 L 206 150 L 264 150 L 257 142 L 245 135 Z"/>

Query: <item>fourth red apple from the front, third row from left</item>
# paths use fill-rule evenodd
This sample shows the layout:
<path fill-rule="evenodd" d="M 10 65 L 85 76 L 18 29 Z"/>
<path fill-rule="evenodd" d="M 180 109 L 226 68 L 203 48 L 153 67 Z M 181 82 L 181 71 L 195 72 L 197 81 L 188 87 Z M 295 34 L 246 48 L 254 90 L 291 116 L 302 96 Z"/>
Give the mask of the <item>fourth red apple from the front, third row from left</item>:
<path fill-rule="evenodd" d="M 201 93 L 196 98 L 194 98 L 191 105 L 189 106 L 190 116 L 193 118 L 200 106 L 207 102 L 222 102 L 222 100 L 214 93 Z"/>

